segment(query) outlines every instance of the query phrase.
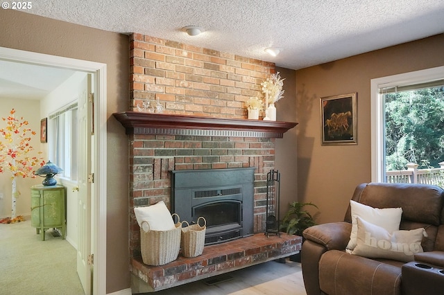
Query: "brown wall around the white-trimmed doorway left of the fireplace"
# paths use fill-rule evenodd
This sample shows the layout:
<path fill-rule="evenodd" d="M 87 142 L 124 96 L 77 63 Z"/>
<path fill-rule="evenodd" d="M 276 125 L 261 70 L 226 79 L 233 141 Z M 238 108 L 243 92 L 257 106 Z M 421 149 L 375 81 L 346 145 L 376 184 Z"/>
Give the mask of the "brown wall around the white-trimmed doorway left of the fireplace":
<path fill-rule="evenodd" d="M 0 46 L 107 64 L 107 292 L 130 287 L 128 138 L 112 117 L 128 109 L 128 36 L 0 10 Z"/>

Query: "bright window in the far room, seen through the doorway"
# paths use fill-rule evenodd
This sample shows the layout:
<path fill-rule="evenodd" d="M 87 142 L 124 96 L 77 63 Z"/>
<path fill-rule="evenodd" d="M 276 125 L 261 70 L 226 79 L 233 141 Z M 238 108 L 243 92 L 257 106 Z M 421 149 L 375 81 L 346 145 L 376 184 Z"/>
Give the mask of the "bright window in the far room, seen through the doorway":
<path fill-rule="evenodd" d="M 77 102 L 49 116 L 53 127 L 54 141 L 51 141 L 51 158 L 63 169 L 62 177 L 77 180 L 78 126 Z"/>

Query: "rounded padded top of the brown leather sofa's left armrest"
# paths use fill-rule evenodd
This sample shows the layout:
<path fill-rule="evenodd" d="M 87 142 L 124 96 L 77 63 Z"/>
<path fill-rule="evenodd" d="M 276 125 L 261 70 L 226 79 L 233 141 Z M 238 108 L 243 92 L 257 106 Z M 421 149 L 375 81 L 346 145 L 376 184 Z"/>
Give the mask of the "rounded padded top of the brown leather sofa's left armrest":
<path fill-rule="evenodd" d="M 302 235 L 306 240 L 323 245 L 327 250 L 344 250 L 350 240 L 352 224 L 332 222 L 318 224 L 306 229 Z"/>

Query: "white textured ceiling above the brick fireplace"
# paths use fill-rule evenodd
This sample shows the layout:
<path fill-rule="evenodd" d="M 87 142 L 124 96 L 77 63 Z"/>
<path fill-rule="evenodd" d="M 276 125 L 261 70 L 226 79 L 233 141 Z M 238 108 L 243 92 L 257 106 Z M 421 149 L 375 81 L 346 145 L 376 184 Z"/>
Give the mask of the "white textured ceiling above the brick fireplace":
<path fill-rule="evenodd" d="M 301 69 L 444 33 L 443 0 L 39 0 L 28 13 Z M 183 26 L 201 26 L 191 37 Z M 264 48 L 282 48 L 278 57 Z"/>

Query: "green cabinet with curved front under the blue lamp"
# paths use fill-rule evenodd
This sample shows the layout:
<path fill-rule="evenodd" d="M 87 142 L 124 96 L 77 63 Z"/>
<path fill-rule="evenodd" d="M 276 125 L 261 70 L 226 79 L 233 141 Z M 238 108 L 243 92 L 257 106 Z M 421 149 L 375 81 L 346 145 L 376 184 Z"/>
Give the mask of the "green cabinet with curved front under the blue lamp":
<path fill-rule="evenodd" d="M 65 239 L 66 204 L 65 186 L 40 184 L 31 187 L 31 226 L 36 228 L 37 234 L 42 235 L 42 241 L 46 229 L 59 229 L 62 239 Z"/>

